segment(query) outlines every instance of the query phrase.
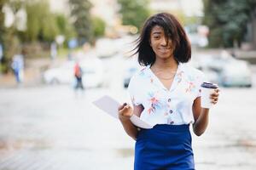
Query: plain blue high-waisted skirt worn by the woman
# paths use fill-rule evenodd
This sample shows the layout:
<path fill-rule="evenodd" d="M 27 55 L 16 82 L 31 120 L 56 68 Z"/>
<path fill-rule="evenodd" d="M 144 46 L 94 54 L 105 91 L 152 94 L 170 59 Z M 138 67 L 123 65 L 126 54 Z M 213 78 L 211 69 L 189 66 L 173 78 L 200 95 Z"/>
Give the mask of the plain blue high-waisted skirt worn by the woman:
<path fill-rule="evenodd" d="M 141 129 L 135 145 L 135 170 L 195 170 L 189 125 Z"/>

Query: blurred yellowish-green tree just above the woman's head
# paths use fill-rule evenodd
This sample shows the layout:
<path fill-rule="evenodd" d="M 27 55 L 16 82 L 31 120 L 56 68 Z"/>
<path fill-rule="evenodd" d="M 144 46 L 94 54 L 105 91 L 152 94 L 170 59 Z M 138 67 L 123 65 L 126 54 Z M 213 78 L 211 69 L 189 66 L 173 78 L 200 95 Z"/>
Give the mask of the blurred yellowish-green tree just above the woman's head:
<path fill-rule="evenodd" d="M 123 25 L 141 28 L 150 14 L 148 0 L 118 0 L 118 3 Z"/>

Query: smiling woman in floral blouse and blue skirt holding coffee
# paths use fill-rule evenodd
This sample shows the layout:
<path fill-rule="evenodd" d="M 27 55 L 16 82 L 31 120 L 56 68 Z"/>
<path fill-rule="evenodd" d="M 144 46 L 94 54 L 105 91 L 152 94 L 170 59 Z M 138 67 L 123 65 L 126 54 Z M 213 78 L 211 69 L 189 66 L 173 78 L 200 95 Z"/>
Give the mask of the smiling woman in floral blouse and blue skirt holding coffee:
<path fill-rule="evenodd" d="M 133 108 L 119 106 L 125 132 L 136 140 L 134 169 L 195 169 L 189 124 L 200 136 L 207 128 L 209 109 L 201 108 L 203 73 L 183 64 L 191 58 L 186 33 L 172 14 L 155 14 L 145 22 L 136 49 L 145 68 L 128 87 Z M 211 94 L 213 104 L 218 91 Z M 133 114 L 154 127 L 135 127 Z"/>

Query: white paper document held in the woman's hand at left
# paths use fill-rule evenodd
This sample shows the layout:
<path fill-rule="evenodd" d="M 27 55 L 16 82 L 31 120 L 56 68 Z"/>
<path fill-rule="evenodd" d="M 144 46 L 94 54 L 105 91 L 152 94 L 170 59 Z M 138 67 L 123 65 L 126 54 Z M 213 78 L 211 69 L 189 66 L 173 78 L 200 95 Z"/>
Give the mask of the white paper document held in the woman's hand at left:
<path fill-rule="evenodd" d="M 105 111 L 108 113 L 108 115 L 113 116 L 114 118 L 119 118 L 118 116 L 118 108 L 119 108 L 119 102 L 113 98 L 111 98 L 108 95 L 102 96 L 100 99 L 96 99 L 94 102 L 92 102 L 94 105 L 96 105 L 98 108 L 100 108 L 102 111 Z M 130 118 L 131 122 L 137 126 L 142 128 L 152 128 L 153 126 L 149 125 L 147 122 L 144 122 L 141 120 L 138 116 L 132 115 Z"/>

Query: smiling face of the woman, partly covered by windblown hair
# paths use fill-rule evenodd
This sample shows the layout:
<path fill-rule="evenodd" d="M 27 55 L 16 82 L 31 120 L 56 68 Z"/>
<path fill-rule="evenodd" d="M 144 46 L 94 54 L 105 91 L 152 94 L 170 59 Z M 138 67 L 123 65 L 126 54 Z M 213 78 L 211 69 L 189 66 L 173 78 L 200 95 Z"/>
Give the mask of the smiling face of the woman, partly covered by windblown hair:
<path fill-rule="evenodd" d="M 173 57 L 174 45 L 172 40 L 166 39 L 165 31 L 161 26 L 154 26 L 150 33 L 150 46 L 157 58 L 168 59 Z"/>

